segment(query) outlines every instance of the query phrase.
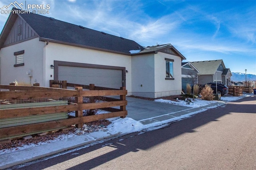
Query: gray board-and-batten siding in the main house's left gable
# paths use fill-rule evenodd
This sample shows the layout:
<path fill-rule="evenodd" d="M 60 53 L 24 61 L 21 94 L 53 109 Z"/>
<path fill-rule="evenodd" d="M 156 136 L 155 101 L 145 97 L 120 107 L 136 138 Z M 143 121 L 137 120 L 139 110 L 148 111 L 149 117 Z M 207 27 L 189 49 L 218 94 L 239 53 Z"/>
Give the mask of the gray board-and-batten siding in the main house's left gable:
<path fill-rule="evenodd" d="M 28 26 L 24 20 L 18 17 L 14 22 L 12 29 L 10 30 L 10 34 L 4 42 L 4 47 L 12 45 L 13 43 L 29 40 L 36 37 L 36 33 L 30 28 L 30 26 Z"/>

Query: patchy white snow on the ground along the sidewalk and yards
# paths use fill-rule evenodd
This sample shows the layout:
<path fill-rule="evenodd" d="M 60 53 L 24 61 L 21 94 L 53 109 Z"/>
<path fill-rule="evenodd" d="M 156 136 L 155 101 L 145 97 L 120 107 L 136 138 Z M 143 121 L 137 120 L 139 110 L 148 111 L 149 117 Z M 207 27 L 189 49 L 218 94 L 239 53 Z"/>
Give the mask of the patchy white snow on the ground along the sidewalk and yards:
<path fill-rule="evenodd" d="M 248 97 L 248 96 L 250 96 L 250 95 L 243 95 L 243 96 L 239 96 L 239 97 L 223 96 L 223 97 L 221 97 L 221 100 L 230 102 L 230 101 L 235 101 L 235 100 L 241 99 L 243 97 Z M 157 99 L 155 101 L 163 102 L 163 103 L 170 103 L 170 104 L 174 104 L 174 105 L 183 105 L 183 106 L 192 107 L 192 108 L 193 107 L 194 108 L 202 107 L 202 106 L 206 106 L 211 103 L 217 102 L 217 101 L 204 101 L 202 99 L 194 99 L 194 100 L 192 99 L 191 100 L 192 102 L 189 105 L 187 105 L 185 101 L 180 101 L 180 100 L 178 100 L 178 102 L 164 100 L 164 99 Z M 178 121 L 178 120 L 184 119 L 186 117 L 190 117 L 191 115 L 199 113 L 199 112 L 201 112 L 201 111 L 191 113 L 188 115 L 183 115 L 181 117 L 176 117 L 176 118 L 173 118 L 171 121 Z M 100 112 L 100 113 L 104 113 L 104 112 Z M 66 142 L 65 144 L 67 144 L 67 145 L 70 144 L 71 146 L 74 146 L 74 141 L 75 142 L 79 142 L 79 140 L 84 141 L 85 138 L 87 140 L 96 141 L 97 139 L 102 138 L 102 136 L 103 137 L 109 136 L 111 134 L 128 134 L 128 133 L 132 133 L 132 132 L 139 132 L 142 130 L 144 130 L 144 132 L 145 132 L 145 131 L 150 131 L 150 130 L 160 128 L 161 126 L 165 126 L 164 124 L 170 122 L 170 120 L 168 120 L 168 121 L 162 121 L 162 122 L 158 122 L 158 123 L 152 123 L 149 125 L 143 125 L 139 121 L 135 121 L 134 119 L 131 119 L 128 117 L 126 117 L 124 119 L 111 118 L 108 120 L 111 121 L 112 123 L 110 125 L 108 125 L 108 127 L 105 128 L 104 130 L 101 130 L 98 132 L 91 132 L 89 134 L 84 134 L 84 135 L 80 135 L 80 136 L 78 136 L 76 134 L 63 134 L 63 135 L 58 136 L 54 140 L 48 140 L 46 142 L 40 142 L 38 144 L 24 145 L 22 147 L 16 147 L 16 148 L 12 148 L 12 149 L 0 150 L 0 155 L 4 156 L 3 154 L 14 153 L 16 151 L 24 150 L 26 148 L 32 148 L 32 147 L 36 148 L 36 146 L 45 145 L 45 144 L 51 144 L 50 147 L 55 148 L 55 147 L 59 147 L 60 144 L 58 143 L 58 141 L 60 142 L 60 140 L 63 140 L 63 142 Z M 54 143 L 56 143 L 56 144 L 54 144 Z M 41 149 L 41 151 L 39 151 L 39 152 L 44 152 L 44 149 Z M 40 153 L 38 153 L 38 154 L 40 154 Z"/>

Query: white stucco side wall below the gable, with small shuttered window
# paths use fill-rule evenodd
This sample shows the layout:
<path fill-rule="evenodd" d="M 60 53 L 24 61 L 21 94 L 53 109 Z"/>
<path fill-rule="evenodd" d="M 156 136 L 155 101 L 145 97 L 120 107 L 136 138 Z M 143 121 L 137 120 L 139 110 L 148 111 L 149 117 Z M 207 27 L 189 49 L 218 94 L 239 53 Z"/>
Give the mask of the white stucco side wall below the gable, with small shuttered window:
<path fill-rule="evenodd" d="M 43 49 L 44 42 L 39 42 L 38 38 L 17 43 L 0 50 L 1 56 L 1 84 L 9 85 L 13 81 L 23 83 L 40 83 L 43 84 Z M 14 67 L 16 57 L 14 52 L 24 50 L 24 65 Z M 32 70 L 32 77 L 26 74 Z"/>

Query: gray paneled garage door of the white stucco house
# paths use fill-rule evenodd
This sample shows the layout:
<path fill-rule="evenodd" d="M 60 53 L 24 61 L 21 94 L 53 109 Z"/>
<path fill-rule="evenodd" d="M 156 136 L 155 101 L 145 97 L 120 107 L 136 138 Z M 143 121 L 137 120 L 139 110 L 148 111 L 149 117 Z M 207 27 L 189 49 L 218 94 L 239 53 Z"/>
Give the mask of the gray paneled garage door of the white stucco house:
<path fill-rule="evenodd" d="M 68 83 L 109 87 L 120 89 L 122 87 L 122 70 L 58 66 L 58 80 Z"/>

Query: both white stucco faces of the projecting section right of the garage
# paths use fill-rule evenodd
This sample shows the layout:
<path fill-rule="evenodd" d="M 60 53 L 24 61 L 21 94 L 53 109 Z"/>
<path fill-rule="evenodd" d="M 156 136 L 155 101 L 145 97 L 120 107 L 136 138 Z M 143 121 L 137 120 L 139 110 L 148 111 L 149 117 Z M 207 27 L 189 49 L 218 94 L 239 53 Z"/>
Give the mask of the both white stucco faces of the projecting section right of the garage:
<path fill-rule="evenodd" d="M 174 80 L 165 79 L 165 58 L 174 59 Z M 181 90 L 180 57 L 162 52 L 132 56 L 132 95 L 157 98 L 180 95 Z"/>

